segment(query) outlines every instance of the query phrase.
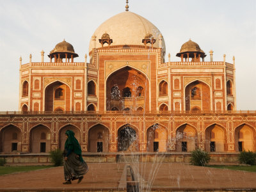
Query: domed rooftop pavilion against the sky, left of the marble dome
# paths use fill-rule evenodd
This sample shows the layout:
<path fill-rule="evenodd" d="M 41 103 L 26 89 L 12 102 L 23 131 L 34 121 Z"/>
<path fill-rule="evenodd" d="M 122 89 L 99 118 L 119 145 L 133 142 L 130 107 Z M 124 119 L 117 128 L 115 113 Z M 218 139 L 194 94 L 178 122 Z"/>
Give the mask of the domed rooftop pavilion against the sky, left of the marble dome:
<path fill-rule="evenodd" d="M 54 58 L 55 62 L 62 63 L 62 59 L 65 58 L 65 62 L 67 63 L 71 58 L 71 62 L 73 63 L 74 58 L 78 57 L 78 54 L 76 54 L 76 52 L 74 51 L 73 45 L 63 40 L 63 42 L 60 42 L 54 47 L 54 49 L 52 49 L 48 56 L 51 62 L 52 58 Z"/>

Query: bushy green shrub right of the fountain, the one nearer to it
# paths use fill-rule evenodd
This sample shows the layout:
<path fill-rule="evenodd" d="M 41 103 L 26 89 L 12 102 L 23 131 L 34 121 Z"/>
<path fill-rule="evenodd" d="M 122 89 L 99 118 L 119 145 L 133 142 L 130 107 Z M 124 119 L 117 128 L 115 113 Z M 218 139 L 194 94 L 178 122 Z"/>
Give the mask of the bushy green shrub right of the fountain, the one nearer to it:
<path fill-rule="evenodd" d="M 191 152 L 190 163 L 196 166 L 205 166 L 210 159 L 211 157 L 207 152 L 198 148 Z"/>

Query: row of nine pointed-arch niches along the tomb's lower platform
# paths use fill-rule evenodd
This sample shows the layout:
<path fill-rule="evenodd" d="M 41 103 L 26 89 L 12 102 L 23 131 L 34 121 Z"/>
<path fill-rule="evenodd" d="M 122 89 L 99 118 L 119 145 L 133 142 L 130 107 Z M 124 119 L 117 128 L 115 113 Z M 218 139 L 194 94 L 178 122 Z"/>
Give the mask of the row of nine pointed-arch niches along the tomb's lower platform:
<path fill-rule="evenodd" d="M 219 124 L 209 125 L 204 129 L 203 134 L 191 124 L 180 125 L 175 129 L 174 134 L 170 134 L 170 129 L 161 124 L 151 125 L 145 129 L 145 134 L 137 127 L 125 124 L 116 129 L 116 136 L 102 124 L 93 125 L 88 131 L 84 129 L 82 131 L 76 125 L 67 124 L 58 129 L 58 134 L 46 125 L 39 124 L 29 129 L 28 136 L 15 125 L 3 127 L 0 131 L 0 152 L 23 152 L 22 145 L 27 145 L 26 143 L 28 143 L 27 152 L 31 153 L 50 152 L 55 147 L 63 150 L 66 140 L 65 132 L 68 129 L 75 132 L 84 152 L 138 152 L 143 145 L 145 148 L 143 147 L 142 151 L 147 152 L 191 152 L 198 147 L 207 152 L 256 150 L 256 129 L 248 124 L 238 125 L 234 129 L 232 138 L 229 139 L 227 129 Z M 228 147 L 230 139 L 234 141 L 232 144 L 234 148 Z M 171 148 L 172 145 L 174 148 Z"/>

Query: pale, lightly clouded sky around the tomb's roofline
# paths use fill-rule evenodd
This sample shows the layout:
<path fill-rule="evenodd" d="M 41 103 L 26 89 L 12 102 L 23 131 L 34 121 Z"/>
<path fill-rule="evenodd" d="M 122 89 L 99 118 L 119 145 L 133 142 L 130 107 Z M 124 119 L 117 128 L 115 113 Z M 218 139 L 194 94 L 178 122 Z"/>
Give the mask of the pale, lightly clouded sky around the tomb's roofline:
<path fill-rule="evenodd" d="M 150 20 L 164 36 L 166 55 L 175 55 L 189 38 L 213 60 L 236 57 L 238 110 L 256 110 L 256 1 L 129 0 L 129 10 Z M 40 62 L 63 38 L 84 62 L 97 27 L 125 11 L 125 0 L 0 0 L 0 111 L 18 111 L 19 58 Z M 167 58 L 166 58 L 167 60 Z"/>

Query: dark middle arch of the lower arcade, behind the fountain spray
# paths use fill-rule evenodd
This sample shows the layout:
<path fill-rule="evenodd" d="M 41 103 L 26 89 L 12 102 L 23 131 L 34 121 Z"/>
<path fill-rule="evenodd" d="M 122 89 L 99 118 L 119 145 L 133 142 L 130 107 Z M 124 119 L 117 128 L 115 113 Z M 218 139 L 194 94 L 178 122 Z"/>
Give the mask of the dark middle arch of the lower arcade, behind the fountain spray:
<path fill-rule="evenodd" d="M 138 133 L 127 124 L 118 129 L 118 151 L 138 152 Z"/>

